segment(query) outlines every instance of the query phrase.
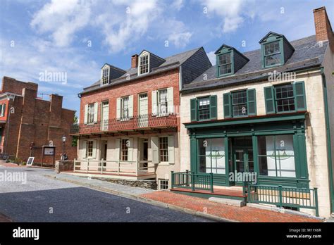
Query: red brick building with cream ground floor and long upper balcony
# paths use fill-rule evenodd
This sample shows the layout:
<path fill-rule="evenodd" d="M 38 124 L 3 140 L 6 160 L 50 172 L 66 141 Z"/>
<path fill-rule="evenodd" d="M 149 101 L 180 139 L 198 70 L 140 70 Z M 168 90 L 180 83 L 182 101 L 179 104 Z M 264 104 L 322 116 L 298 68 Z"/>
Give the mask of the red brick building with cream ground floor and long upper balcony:
<path fill-rule="evenodd" d="M 106 63 L 80 93 L 75 172 L 151 179 L 166 189 L 180 169 L 180 88 L 211 63 L 202 47 L 166 58 L 144 50 L 129 61 L 128 70 Z"/>

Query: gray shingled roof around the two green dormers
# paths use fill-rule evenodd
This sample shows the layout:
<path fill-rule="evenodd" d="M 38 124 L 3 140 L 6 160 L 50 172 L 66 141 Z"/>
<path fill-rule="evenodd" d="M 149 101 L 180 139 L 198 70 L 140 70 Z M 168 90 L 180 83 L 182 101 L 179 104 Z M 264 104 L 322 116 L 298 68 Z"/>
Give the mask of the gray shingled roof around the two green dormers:
<path fill-rule="evenodd" d="M 243 53 L 244 56 L 249 58 L 249 62 L 244 67 L 237 70 L 235 75 L 228 77 L 216 78 L 216 65 L 211 66 L 202 75 L 199 75 L 189 84 L 185 84 L 182 92 L 191 92 L 200 89 L 210 89 L 213 87 L 223 87 L 230 84 L 239 82 L 247 82 L 249 80 L 256 80 L 264 77 L 273 70 L 287 71 L 296 70 L 302 68 L 309 68 L 311 66 L 320 65 L 323 61 L 323 55 L 325 54 L 328 42 L 323 42 L 320 46 L 316 42 L 316 36 L 304 37 L 290 42 L 295 48 L 295 52 L 289 58 L 289 60 L 281 66 L 276 68 L 264 69 L 261 64 L 261 49 L 249 51 Z M 206 75 L 206 76 L 204 76 Z M 204 80 L 206 77 L 206 80 Z"/>

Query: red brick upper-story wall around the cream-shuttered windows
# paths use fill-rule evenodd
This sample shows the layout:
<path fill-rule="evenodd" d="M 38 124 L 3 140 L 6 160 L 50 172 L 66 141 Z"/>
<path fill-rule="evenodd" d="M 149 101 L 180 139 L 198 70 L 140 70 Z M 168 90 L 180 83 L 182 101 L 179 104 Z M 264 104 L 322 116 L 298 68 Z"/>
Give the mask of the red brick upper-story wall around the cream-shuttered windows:
<path fill-rule="evenodd" d="M 97 114 L 98 120 L 101 119 L 101 101 L 109 100 L 109 118 L 116 118 L 116 100 L 122 96 L 133 95 L 133 115 L 137 115 L 138 109 L 138 94 L 147 92 L 148 94 L 148 111 L 151 113 L 151 92 L 157 89 L 173 87 L 173 99 L 175 112 L 180 106 L 180 92 L 179 92 L 179 73 L 178 69 L 169 70 L 165 73 L 152 75 L 150 77 L 143 77 L 142 79 L 129 81 L 113 87 L 99 89 L 97 92 L 89 92 L 82 94 L 80 102 L 80 123 L 84 122 L 85 105 L 87 103 L 99 103 L 99 110 Z"/>

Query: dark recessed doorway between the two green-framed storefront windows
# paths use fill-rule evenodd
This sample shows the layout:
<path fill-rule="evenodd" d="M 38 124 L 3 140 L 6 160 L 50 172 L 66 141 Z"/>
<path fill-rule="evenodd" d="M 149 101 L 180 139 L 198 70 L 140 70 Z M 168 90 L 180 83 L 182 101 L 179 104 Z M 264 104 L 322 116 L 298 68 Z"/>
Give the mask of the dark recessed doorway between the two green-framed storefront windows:
<path fill-rule="evenodd" d="M 252 137 L 235 137 L 231 139 L 233 172 L 254 172 L 254 153 Z M 235 185 L 242 185 L 236 181 Z"/>

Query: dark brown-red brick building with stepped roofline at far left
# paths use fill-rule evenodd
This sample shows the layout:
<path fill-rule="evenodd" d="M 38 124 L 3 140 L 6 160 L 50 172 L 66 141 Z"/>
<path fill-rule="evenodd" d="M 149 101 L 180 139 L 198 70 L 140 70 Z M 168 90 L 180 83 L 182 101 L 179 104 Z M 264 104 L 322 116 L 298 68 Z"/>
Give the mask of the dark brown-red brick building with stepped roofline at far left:
<path fill-rule="evenodd" d="M 16 80 L 5 79 L 5 87 L 11 88 L 17 83 Z M 13 82 L 11 84 L 6 84 Z M 24 83 L 23 83 L 24 84 Z M 42 146 L 49 145 L 52 141 L 56 146 L 56 158 L 60 160 L 62 153 L 62 137 L 65 135 L 67 141 L 65 151 L 70 159 L 76 158 L 77 148 L 72 146 L 72 137 L 70 137 L 70 126 L 73 124 L 75 111 L 62 108 L 63 96 L 51 95 L 50 101 L 36 99 L 37 90 L 30 89 L 31 84 L 27 84 L 27 88 L 22 88 L 23 96 L 16 96 L 13 101 L 8 101 L 7 109 L 14 107 L 15 113 L 11 114 L 8 135 L 6 135 L 7 153 L 27 161 L 30 156 L 30 143 L 35 143 L 33 155 L 35 163 L 42 161 Z M 19 87 L 20 87 L 19 86 Z M 4 88 L 4 86 L 3 86 Z M 21 89 L 21 87 L 19 88 Z M 11 89 L 13 92 L 15 89 Z M 6 110 L 7 110 L 6 109 Z M 5 133 L 8 124 L 5 124 Z M 53 158 L 46 156 L 44 163 L 52 163 Z"/>

